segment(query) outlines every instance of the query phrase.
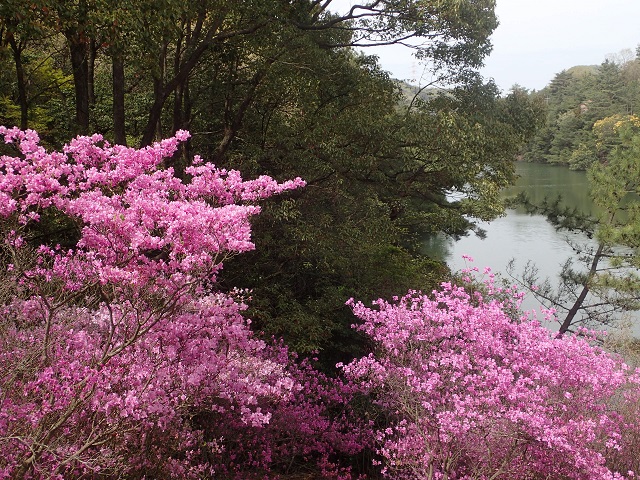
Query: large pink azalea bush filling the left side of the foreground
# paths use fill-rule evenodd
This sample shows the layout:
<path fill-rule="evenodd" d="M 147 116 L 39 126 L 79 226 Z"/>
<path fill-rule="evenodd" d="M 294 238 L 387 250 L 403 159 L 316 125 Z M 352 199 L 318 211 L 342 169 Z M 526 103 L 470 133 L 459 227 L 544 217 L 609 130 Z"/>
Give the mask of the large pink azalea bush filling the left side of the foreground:
<path fill-rule="evenodd" d="M 230 449 L 278 408 L 291 431 L 301 416 L 351 435 L 324 418 L 329 400 L 301 400 L 286 349 L 251 334 L 244 292 L 215 289 L 223 260 L 253 248 L 255 201 L 302 180 L 245 181 L 196 157 L 183 181 L 163 161 L 187 132 L 142 150 L 78 137 L 61 152 L 33 131 L 0 135 L 16 152 L 0 157 L 0 478 L 267 468 L 274 446 Z M 71 245 L 42 239 L 56 228 Z M 329 464 L 342 447 L 328 445 L 303 454 Z"/>

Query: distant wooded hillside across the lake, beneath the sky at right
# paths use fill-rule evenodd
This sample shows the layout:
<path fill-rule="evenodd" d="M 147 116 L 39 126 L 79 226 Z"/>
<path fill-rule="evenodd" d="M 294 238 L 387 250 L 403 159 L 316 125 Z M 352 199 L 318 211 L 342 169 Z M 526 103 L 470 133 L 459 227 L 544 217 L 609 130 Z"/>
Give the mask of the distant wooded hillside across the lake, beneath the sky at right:
<path fill-rule="evenodd" d="M 533 97 L 548 108 L 547 121 L 524 150 L 524 159 L 587 169 L 619 144 L 614 126 L 637 122 L 640 49 L 610 55 L 601 65 L 558 73 Z"/>

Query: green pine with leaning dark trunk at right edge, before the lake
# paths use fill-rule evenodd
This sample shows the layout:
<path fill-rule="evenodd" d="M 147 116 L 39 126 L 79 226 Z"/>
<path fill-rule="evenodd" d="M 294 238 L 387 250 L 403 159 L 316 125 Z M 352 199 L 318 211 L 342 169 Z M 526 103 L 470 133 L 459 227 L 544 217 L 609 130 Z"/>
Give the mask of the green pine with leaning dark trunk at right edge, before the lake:
<path fill-rule="evenodd" d="M 607 140 L 599 147 L 606 161 L 593 160 L 588 169 L 597 215 L 567 210 L 559 200 L 528 205 L 558 229 L 591 239 L 570 242 L 575 257 L 562 266 L 557 287 L 540 279 L 535 265 L 527 265 L 520 276 L 525 287 L 559 312 L 561 333 L 578 325 L 618 325 L 625 312 L 640 309 L 640 119 L 614 115 L 596 122 L 594 131 Z M 579 148 L 574 158 L 580 155 L 591 153 Z"/>

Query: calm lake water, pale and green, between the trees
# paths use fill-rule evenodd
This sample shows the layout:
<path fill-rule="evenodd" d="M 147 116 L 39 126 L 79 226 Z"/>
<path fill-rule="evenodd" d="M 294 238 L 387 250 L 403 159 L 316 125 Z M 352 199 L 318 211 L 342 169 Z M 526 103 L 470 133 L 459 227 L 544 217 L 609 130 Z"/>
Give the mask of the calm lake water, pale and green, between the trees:
<path fill-rule="evenodd" d="M 545 197 L 555 199 L 561 195 L 563 204 L 583 212 L 593 212 L 585 172 L 523 162 L 516 164 L 516 171 L 520 178 L 514 187 L 505 189 L 505 197 L 524 192 L 532 202 L 540 203 Z M 590 242 L 582 235 L 558 232 L 545 217 L 529 215 L 519 209 L 508 210 L 504 217 L 480 222 L 479 225 L 486 231 L 484 239 L 473 233 L 458 241 L 440 235 L 424 240 L 424 252 L 445 261 L 453 270 L 468 266 L 462 255 L 470 255 L 475 260 L 474 266 L 481 271 L 484 267 L 491 267 L 505 278 L 508 278 L 506 268 L 511 259 L 515 259 L 516 272 L 521 272 L 531 260 L 538 266 L 542 279 L 549 277 L 553 281 L 565 261 L 575 255 L 567 239 Z M 539 306 L 532 295 L 527 295 L 523 303 L 525 309 L 538 309 Z"/>

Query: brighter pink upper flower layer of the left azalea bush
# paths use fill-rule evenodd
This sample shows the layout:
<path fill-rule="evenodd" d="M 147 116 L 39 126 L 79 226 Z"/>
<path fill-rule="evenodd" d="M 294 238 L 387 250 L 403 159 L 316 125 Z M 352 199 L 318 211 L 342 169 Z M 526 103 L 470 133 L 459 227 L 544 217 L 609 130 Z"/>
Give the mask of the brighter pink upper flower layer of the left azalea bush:
<path fill-rule="evenodd" d="M 43 247 L 50 262 L 33 273 L 65 278 L 75 290 L 96 281 L 155 284 L 162 291 L 194 275 L 214 280 L 225 254 L 254 247 L 249 218 L 259 207 L 236 202 L 304 185 L 299 178 L 243 181 L 237 171 L 201 161 L 187 169 L 190 182 L 184 183 L 160 168 L 188 138 L 182 131 L 142 150 L 112 147 L 94 135 L 53 153 L 38 145 L 33 131 L 0 127 L 0 135 L 18 142 L 21 153 L 0 157 L 0 217 L 17 216 L 23 229 L 46 208 L 73 219 L 80 229 L 76 249 L 63 254 Z"/>

